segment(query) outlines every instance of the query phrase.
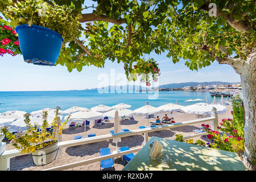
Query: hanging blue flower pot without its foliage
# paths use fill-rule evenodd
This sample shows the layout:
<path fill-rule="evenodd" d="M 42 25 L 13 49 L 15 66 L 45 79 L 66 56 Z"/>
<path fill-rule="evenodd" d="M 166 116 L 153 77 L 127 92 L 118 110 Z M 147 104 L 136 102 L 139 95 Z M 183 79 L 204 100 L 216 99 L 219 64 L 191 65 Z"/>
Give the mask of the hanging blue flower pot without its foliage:
<path fill-rule="evenodd" d="M 57 32 L 31 24 L 16 26 L 24 61 L 36 65 L 55 65 L 63 38 Z"/>

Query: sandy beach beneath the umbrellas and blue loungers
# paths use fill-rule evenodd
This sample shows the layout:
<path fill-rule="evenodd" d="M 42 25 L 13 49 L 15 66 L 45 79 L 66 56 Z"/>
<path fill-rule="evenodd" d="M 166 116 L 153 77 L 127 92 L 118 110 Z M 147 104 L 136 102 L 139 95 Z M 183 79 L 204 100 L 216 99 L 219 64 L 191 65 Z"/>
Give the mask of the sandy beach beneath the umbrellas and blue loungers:
<path fill-rule="evenodd" d="M 221 122 L 221 119 L 223 118 L 232 118 L 232 114 L 230 111 L 232 110 L 232 106 L 228 105 L 226 106 L 228 111 L 226 111 L 225 114 L 218 114 L 218 121 Z M 161 113 L 158 114 L 160 118 L 163 117 L 164 114 L 168 114 L 170 117 L 170 112 L 168 113 Z M 187 114 L 187 113 L 177 113 L 174 112 L 172 115 L 175 119 L 175 122 L 183 122 L 183 121 L 189 121 L 196 119 L 195 114 Z M 139 129 L 139 126 L 148 126 L 148 122 L 146 118 L 143 117 L 134 117 L 134 121 L 121 121 L 121 129 L 129 129 L 129 130 L 137 130 Z M 155 121 L 154 118 L 151 118 L 150 121 Z M 177 127 L 175 129 L 167 129 L 162 131 L 155 131 L 152 133 L 148 133 L 148 139 L 151 137 L 162 137 L 166 139 L 175 139 L 175 134 L 182 134 L 184 137 L 189 136 L 192 134 L 196 134 L 193 132 L 193 130 L 197 129 L 199 130 L 202 123 L 197 123 L 195 125 L 188 125 L 188 126 L 181 126 Z M 209 124 L 210 122 L 205 122 L 205 124 Z M 104 135 L 109 134 L 110 130 L 114 130 L 114 119 L 110 119 L 110 122 L 106 122 L 105 125 L 101 126 L 94 126 L 93 122 L 90 122 L 89 128 L 86 128 L 86 135 L 90 133 L 95 133 L 96 135 Z M 84 136 L 84 128 L 82 127 L 76 127 L 75 130 L 68 130 L 65 129 L 63 131 L 63 141 L 65 140 L 72 140 L 76 135 L 82 135 Z M 194 138 L 194 141 L 197 139 L 204 140 L 205 142 L 208 142 L 208 139 L 206 137 L 197 137 Z M 129 147 L 129 148 L 137 148 L 143 146 L 143 135 L 134 135 L 130 137 L 124 137 L 122 138 L 122 142 L 118 143 L 118 147 Z M 7 142 L 6 150 L 14 149 L 9 142 Z M 109 147 L 111 151 L 115 150 L 115 143 L 111 140 L 106 140 L 102 142 L 97 143 L 90 143 L 90 144 L 82 144 L 80 146 L 74 146 L 74 147 L 67 147 L 63 148 L 63 154 L 61 156 L 57 156 L 56 160 L 50 164 L 47 164 L 43 167 L 37 167 L 32 162 L 32 156 L 31 154 L 23 155 L 23 156 L 16 156 L 14 158 L 10 159 L 10 169 L 11 171 L 16 170 L 42 170 L 47 169 L 51 167 L 57 167 L 64 164 L 69 164 L 73 162 L 79 162 L 81 160 L 85 159 L 92 159 L 100 156 L 100 149 Z M 114 159 L 114 167 L 116 171 L 122 170 L 123 162 L 121 160 L 121 157 Z M 71 168 L 68 170 L 82 170 L 82 171 L 99 171 L 100 170 L 100 162 L 88 164 L 85 166 L 80 166 L 76 168 Z"/>

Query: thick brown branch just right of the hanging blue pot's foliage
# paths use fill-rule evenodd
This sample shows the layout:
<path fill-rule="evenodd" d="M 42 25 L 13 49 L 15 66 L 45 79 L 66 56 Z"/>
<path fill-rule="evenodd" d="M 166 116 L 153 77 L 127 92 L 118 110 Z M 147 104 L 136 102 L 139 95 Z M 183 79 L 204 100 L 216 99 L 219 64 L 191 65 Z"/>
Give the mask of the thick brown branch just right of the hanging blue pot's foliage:
<path fill-rule="evenodd" d="M 106 16 L 106 15 L 96 15 L 93 13 L 82 14 L 82 18 L 79 19 L 80 23 L 90 22 L 90 21 L 105 21 L 105 22 L 110 22 L 110 23 L 114 23 L 114 24 L 125 23 L 125 19 L 123 19 L 123 18 L 114 19 L 114 18 L 110 18 L 109 16 Z"/>

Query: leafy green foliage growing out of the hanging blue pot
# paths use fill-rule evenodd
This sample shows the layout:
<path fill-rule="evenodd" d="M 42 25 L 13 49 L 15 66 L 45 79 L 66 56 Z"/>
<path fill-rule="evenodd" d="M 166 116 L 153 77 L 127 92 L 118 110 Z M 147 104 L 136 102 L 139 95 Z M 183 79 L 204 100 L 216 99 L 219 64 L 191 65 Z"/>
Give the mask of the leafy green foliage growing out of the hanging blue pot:
<path fill-rule="evenodd" d="M 77 19 L 81 18 L 74 9 L 67 5 L 56 5 L 54 1 L 26 0 L 17 1 L 3 10 L 13 27 L 20 24 L 35 24 L 58 32 L 65 43 L 79 37 L 81 26 Z"/>

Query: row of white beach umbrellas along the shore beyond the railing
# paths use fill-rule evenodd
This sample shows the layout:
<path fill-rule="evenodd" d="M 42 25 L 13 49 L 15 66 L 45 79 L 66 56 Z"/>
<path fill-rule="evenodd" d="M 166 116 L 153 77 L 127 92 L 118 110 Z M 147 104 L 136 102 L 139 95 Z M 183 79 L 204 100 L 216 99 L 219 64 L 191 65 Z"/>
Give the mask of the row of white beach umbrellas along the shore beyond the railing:
<path fill-rule="evenodd" d="M 216 107 L 217 113 L 225 113 L 226 107 L 222 106 L 220 104 L 213 105 L 213 104 L 207 104 L 205 102 L 200 102 L 195 105 L 189 105 L 189 106 L 181 106 L 177 104 L 165 104 L 159 107 L 154 107 L 151 105 L 148 105 L 148 102 L 146 105 L 139 107 L 135 110 L 129 110 L 131 105 L 127 104 L 118 104 L 112 107 L 105 106 L 105 105 L 98 105 L 95 107 L 92 107 L 91 109 L 88 109 L 86 107 L 78 107 L 73 106 L 67 110 L 59 111 L 60 112 L 60 118 L 65 119 L 67 118 L 68 114 L 71 114 L 71 117 L 69 118 L 69 122 L 75 121 L 75 122 L 83 122 L 86 119 L 87 120 L 94 120 L 94 119 L 100 119 L 103 117 L 109 117 L 109 118 L 115 118 L 116 111 L 118 115 L 125 115 L 129 117 L 130 115 L 149 115 L 149 114 L 156 114 L 163 111 L 181 111 L 184 113 L 192 113 L 192 114 L 206 114 L 212 112 L 212 107 Z M 38 111 L 31 112 L 30 119 L 32 122 L 38 123 L 38 125 L 42 125 L 42 114 L 43 111 L 48 111 L 48 121 L 52 121 L 52 119 L 55 117 L 55 109 L 42 109 Z M 26 130 L 24 127 L 26 127 L 24 123 L 24 117 L 23 115 L 26 114 L 25 111 L 6 111 L 5 113 L 0 113 L 0 127 L 1 126 L 9 126 L 10 129 L 13 130 Z"/>

